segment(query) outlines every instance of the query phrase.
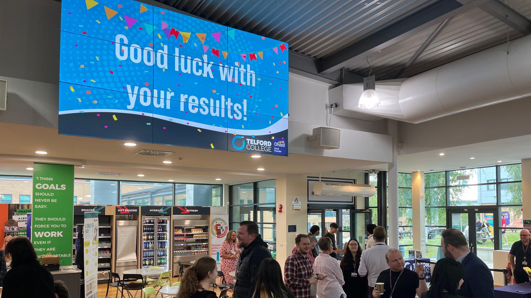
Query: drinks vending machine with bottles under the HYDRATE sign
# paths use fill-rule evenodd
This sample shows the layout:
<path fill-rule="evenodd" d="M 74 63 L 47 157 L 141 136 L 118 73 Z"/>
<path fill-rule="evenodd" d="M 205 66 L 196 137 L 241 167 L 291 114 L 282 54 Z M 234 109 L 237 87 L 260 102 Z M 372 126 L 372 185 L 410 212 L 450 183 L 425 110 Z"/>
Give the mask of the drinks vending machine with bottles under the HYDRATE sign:
<path fill-rule="evenodd" d="M 172 207 L 170 206 L 142 206 L 142 253 L 141 268 L 159 266 L 170 268 L 169 222 Z"/>

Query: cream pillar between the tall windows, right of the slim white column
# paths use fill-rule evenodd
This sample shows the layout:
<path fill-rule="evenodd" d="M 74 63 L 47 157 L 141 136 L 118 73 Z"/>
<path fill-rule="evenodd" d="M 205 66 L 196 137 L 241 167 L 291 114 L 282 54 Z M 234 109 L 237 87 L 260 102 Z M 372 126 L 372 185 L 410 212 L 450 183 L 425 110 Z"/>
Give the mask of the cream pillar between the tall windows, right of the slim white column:
<path fill-rule="evenodd" d="M 413 203 L 413 249 L 426 251 L 426 209 L 424 201 L 424 172 L 411 173 Z"/>

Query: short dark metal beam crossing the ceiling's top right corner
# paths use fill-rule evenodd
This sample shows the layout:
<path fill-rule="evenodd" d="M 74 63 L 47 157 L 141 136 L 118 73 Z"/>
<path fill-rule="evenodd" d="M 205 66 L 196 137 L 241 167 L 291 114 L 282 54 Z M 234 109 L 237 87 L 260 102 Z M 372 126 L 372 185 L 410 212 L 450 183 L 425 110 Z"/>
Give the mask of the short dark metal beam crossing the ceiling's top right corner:
<path fill-rule="evenodd" d="M 479 8 L 504 23 L 509 22 L 510 27 L 524 35 L 531 33 L 531 20 L 499 0 L 491 0 Z"/>

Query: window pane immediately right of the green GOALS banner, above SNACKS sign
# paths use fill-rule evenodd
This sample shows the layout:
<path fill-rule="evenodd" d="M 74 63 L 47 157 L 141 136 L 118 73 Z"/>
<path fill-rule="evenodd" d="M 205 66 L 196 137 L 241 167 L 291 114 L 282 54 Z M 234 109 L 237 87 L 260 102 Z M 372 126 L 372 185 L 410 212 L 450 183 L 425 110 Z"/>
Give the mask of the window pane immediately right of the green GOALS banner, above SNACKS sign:
<path fill-rule="evenodd" d="M 117 181 L 74 179 L 74 204 L 77 205 L 116 205 L 117 192 Z"/>

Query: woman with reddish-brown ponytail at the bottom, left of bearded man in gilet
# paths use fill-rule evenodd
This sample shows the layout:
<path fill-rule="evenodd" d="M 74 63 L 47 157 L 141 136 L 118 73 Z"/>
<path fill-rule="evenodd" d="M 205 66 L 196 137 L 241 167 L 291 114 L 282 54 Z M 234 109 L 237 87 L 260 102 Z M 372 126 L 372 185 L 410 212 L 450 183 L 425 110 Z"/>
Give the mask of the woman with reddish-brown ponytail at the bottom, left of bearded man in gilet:
<path fill-rule="evenodd" d="M 208 290 L 211 284 L 216 283 L 216 277 L 216 260 L 211 257 L 199 258 L 184 271 L 177 298 L 216 298 L 216 293 Z"/>

